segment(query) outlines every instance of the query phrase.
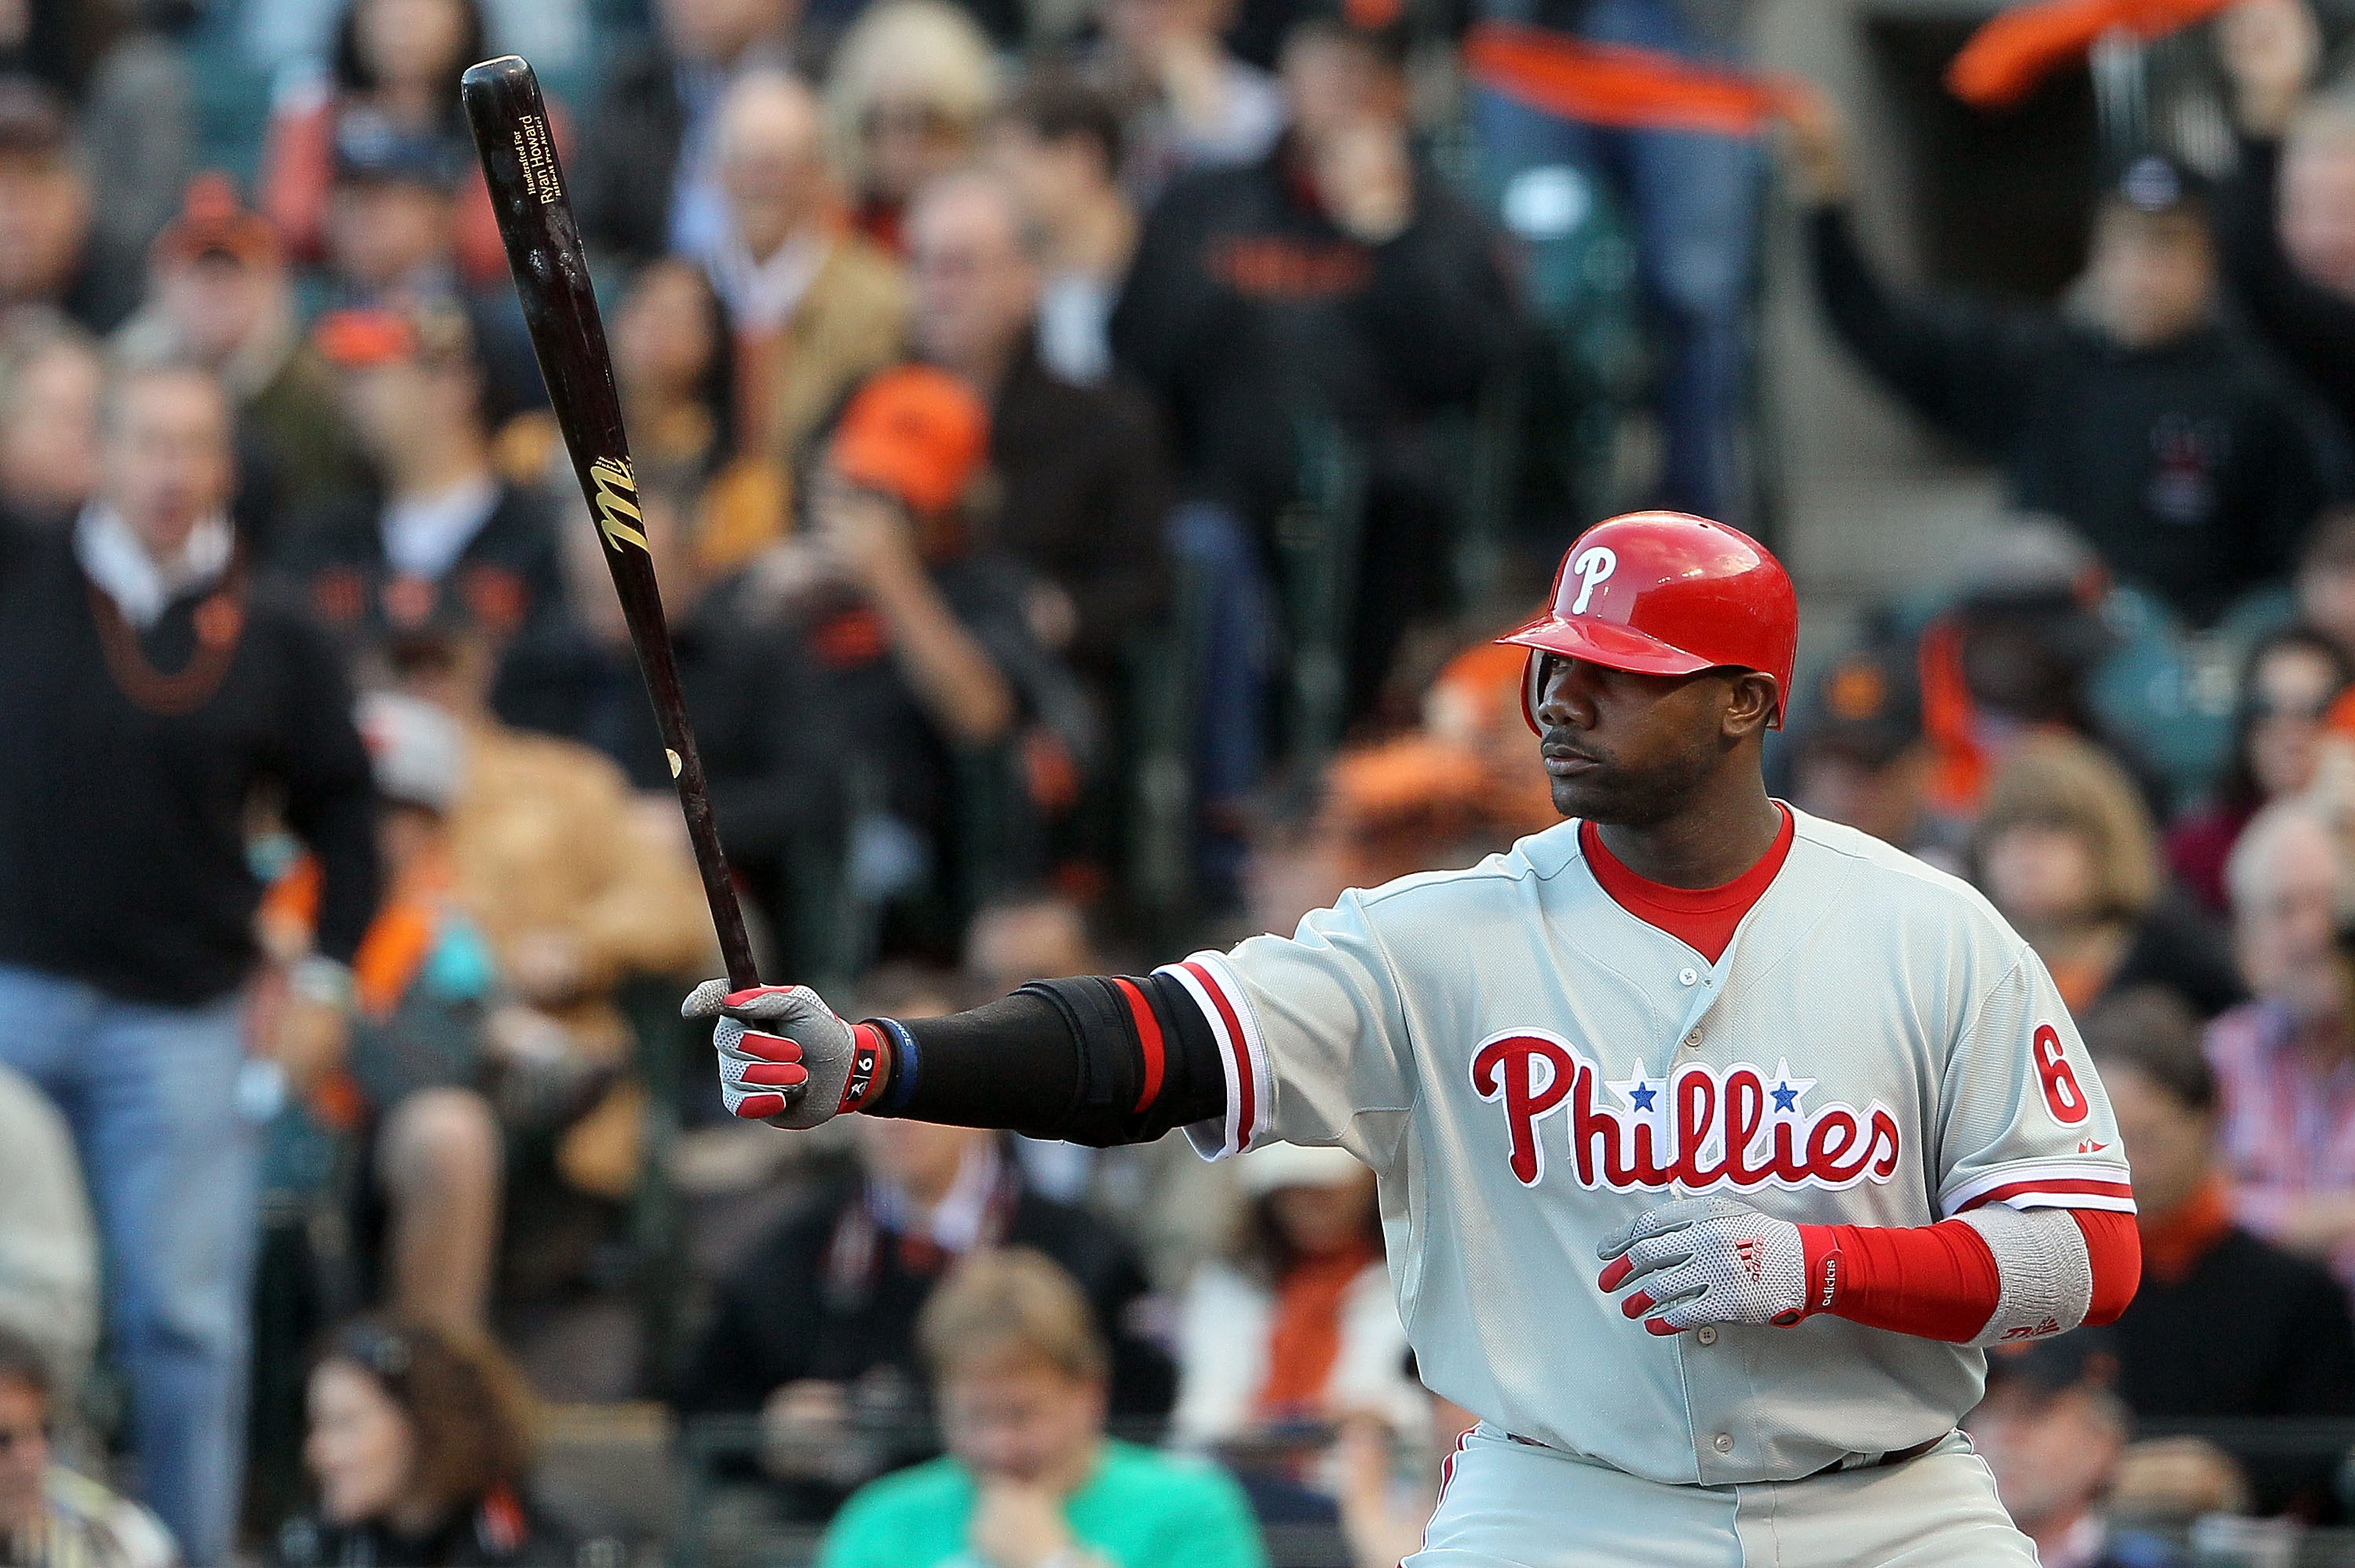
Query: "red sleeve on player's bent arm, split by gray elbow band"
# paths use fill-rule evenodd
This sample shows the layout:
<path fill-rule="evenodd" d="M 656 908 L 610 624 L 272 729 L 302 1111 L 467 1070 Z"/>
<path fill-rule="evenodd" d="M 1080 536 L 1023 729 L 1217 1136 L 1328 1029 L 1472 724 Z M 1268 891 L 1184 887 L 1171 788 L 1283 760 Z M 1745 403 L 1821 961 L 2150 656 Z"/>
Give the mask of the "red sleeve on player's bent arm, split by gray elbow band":
<path fill-rule="evenodd" d="M 2094 1302 L 2084 1321 L 2115 1323 L 2143 1274 L 2134 1215 L 2070 1210 L 2084 1231 Z M 1995 1316 L 2004 1281 L 1985 1236 L 1962 1220 L 1938 1224 L 1802 1224 L 1811 1302 L 1835 1318 L 1922 1340 L 1969 1344 Z"/>

